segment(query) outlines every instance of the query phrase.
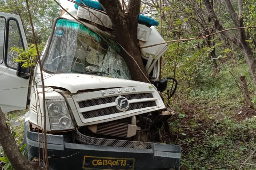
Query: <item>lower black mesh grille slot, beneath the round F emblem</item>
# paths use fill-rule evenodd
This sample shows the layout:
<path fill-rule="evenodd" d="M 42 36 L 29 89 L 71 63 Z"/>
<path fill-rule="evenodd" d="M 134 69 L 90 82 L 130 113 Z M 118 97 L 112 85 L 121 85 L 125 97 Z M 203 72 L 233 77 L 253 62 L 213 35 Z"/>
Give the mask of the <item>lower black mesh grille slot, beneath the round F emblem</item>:
<path fill-rule="evenodd" d="M 142 108 L 147 108 L 147 107 L 152 107 L 156 106 L 155 101 L 150 101 L 150 102 L 140 102 L 140 103 L 131 103 L 128 110 L 134 110 L 134 109 L 142 109 Z M 103 109 L 97 109 L 97 110 L 92 110 L 88 112 L 83 112 L 83 117 L 84 119 L 88 118 L 95 118 L 98 116 L 105 116 L 105 115 L 110 115 L 110 114 L 115 114 L 119 113 L 119 111 L 115 106 L 109 107 L 109 108 L 103 108 Z"/>

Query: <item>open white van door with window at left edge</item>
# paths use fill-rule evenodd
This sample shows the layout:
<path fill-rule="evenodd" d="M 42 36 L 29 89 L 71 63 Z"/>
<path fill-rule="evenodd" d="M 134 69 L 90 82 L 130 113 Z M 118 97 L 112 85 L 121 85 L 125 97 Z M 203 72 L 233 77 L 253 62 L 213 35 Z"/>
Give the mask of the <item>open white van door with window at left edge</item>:
<path fill-rule="evenodd" d="M 26 109 L 29 75 L 13 58 L 17 52 L 11 47 L 26 48 L 27 40 L 21 18 L 18 15 L 0 12 L 0 107 L 4 113 Z"/>

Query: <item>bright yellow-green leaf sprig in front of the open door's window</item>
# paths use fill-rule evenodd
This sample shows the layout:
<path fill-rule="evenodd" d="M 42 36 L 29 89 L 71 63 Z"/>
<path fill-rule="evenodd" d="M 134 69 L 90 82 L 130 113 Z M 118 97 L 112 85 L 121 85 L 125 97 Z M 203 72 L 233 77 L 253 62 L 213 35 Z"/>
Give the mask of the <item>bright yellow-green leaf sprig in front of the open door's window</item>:
<path fill-rule="evenodd" d="M 38 45 L 38 48 L 41 51 L 43 44 Z M 22 63 L 22 67 L 24 68 L 36 65 L 35 58 L 37 57 L 37 51 L 35 44 L 29 45 L 27 49 L 11 47 L 11 51 L 15 51 L 18 54 L 18 58 L 13 58 L 13 62 Z"/>

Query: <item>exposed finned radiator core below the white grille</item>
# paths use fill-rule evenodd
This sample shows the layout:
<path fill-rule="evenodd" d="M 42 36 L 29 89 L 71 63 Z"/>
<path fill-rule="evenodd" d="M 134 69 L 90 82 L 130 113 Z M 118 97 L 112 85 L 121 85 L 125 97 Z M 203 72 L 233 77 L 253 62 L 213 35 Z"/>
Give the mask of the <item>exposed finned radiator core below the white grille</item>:
<path fill-rule="evenodd" d="M 105 134 L 105 135 L 112 135 L 112 136 L 119 136 L 119 137 L 126 137 L 128 130 L 128 124 L 119 123 L 119 122 L 107 122 L 98 124 L 97 126 L 97 133 L 98 134 Z"/>

